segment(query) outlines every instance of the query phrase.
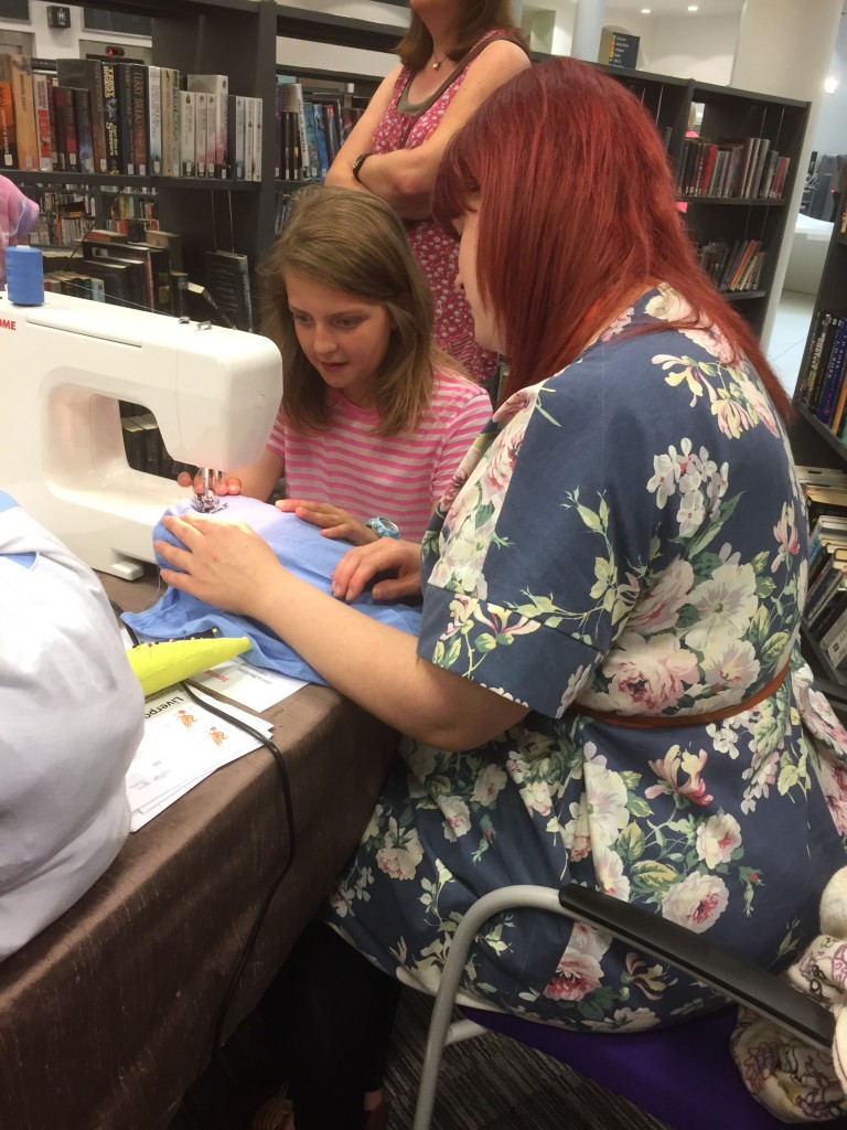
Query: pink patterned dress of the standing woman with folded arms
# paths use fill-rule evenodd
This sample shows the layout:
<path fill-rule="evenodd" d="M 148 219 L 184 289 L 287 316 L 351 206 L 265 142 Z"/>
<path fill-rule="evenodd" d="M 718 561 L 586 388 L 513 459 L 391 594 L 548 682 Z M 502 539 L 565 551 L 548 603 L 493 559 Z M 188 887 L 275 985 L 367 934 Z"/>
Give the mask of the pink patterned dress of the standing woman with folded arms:
<path fill-rule="evenodd" d="M 482 40 L 498 34 L 501 33 L 497 29 L 487 32 Z M 431 103 L 427 99 L 414 105 L 405 98 L 414 72 L 404 67 L 394 85 L 391 105 L 374 130 L 373 151 L 414 149 L 426 141 L 438 128 L 445 110 L 464 81 L 468 67 L 456 75 L 440 97 Z M 477 345 L 471 307 L 464 295 L 457 294 L 453 287 L 459 269 L 459 242 L 434 219 L 408 220 L 407 234 L 433 293 L 435 340 L 451 357 L 461 362 L 474 380 L 490 380 L 497 370 L 497 354 Z"/>

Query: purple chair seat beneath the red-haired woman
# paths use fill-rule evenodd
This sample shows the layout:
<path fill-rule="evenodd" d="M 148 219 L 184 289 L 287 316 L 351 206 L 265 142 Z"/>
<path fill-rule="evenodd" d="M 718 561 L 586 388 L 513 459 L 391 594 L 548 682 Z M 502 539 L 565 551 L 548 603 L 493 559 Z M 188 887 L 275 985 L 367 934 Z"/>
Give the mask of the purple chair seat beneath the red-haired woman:
<path fill-rule="evenodd" d="M 505 1012 L 464 1007 L 461 1011 L 469 1020 L 567 1063 L 678 1130 L 785 1128 L 748 1093 L 730 1054 L 734 1007 L 673 1028 L 626 1035 L 586 1035 Z M 819 1124 L 842 1130 L 847 1120 Z"/>

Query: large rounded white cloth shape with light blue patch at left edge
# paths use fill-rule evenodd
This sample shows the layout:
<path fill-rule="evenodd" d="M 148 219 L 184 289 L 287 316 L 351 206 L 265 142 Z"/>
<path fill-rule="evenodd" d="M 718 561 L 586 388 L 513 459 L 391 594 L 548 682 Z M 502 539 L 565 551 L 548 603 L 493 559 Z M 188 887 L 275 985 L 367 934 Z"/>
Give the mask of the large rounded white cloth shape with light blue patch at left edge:
<path fill-rule="evenodd" d="M 94 573 L 2 492 L 0 719 L 3 960 L 125 841 L 143 696 Z"/>

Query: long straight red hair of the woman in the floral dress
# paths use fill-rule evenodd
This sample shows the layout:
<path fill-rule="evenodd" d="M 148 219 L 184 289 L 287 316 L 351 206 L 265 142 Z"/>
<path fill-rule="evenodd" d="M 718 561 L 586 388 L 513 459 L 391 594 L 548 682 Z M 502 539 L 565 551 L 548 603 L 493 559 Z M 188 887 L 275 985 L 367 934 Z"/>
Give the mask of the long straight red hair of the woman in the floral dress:
<path fill-rule="evenodd" d="M 447 148 L 435 215 L 451 227 L 477 197 L 477 282 L 505 342 L 504 397 L 574 360 L 634 288 L 667 282 L 693 311 L 670 324 L 722 330 L 791 417 L 752 329 L 700 268 L 658 131 L 622 84 L 555 59 L 495 90 Z"/>

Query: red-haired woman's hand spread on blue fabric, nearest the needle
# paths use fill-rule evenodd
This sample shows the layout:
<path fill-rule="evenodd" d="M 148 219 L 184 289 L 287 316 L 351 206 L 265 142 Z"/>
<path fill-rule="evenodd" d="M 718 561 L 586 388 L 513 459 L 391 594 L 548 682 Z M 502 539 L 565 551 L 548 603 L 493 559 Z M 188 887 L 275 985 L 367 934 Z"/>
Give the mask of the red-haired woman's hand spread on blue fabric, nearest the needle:
<path fill-rule="evenodd" d="M 265 620 L 274 581 L 282 566 L 267 541 L 244 522 L 220 522 L 186 513 L 166 514 L 165 528 L 185 546 L 154 542 L 165 560 L 182 570 L 161 570 L 161 580 L 174 589 L 241 616 Z"/>

